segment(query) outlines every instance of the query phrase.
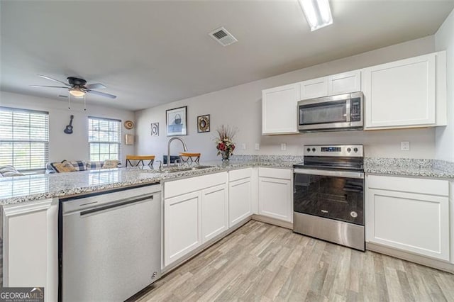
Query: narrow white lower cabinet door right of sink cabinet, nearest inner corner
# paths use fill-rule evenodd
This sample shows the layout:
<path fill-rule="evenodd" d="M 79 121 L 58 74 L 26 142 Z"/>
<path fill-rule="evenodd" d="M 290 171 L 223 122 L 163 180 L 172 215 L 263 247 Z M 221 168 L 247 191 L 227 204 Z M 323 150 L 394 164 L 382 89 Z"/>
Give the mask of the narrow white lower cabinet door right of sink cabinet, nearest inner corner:
<path fill-rule="evenodd" d="M 252 215 L 251 179 L 240 179 L 228 184 L 228 227 Z"/>

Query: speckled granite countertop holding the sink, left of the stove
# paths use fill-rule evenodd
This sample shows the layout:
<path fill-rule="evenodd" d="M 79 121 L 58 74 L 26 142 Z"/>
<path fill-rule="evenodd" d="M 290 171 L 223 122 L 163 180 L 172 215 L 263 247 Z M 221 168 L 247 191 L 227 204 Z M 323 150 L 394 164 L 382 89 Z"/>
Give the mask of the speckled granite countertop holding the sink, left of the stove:
<path fill-rule="evenodd" d="M 215 172 L 240 169 L 245 167 L 292 168 L 298 160 L 261 160 L 245 158 L 229 162 L 201 162 L 201 165 L 212 166 L 184 172 L 160 173 L 154 167 L 129 167 L 118 169 L 96 169 L 81 172 L 33 174 L 21 177 L 0 178 L 0 206 L 26 201 L 37 201 L 45 198 L 73 196 L 93 191 L 116 189 L 124 186 L 153 184 L 173 179 L 200 176 Z"/>

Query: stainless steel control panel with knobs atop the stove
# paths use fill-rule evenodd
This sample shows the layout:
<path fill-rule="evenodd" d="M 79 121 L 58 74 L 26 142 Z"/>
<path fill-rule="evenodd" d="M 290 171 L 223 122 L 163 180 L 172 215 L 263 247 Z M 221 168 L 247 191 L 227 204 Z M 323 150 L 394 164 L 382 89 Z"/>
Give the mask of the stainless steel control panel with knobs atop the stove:
<path fill-rule="evenodd" d="M 304 156 L 364 157 L 362 145 L 304 145 Z"/>

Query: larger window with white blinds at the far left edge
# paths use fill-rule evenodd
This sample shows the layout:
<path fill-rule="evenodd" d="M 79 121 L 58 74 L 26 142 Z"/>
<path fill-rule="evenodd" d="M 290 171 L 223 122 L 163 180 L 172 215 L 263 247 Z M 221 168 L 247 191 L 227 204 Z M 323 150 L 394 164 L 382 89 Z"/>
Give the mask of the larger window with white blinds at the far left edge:
<path fill-rule="evenodd" d="M 49 161 L 49 113 L 0 107 L 0 166 L 45 169 Z"/>

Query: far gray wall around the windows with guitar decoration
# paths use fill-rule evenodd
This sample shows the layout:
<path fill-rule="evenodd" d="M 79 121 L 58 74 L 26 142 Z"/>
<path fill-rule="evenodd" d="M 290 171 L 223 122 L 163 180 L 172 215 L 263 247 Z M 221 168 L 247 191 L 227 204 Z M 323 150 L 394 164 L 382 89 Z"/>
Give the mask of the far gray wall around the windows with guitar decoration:
<path fill-rule="evenodd" d="M 80 101 L 72 102 L 72 109 L 68 110 L 67 101 L 43 99 L 36 96 L 13 94 L 0 91 L 0 106 L 13 108 L 25 108 L 49 112 L 49 159 L 50 162 L 61 162 L 62 160 L 89 160 L 88 144 L 88 116 L 102 118 L 116 118 L 121 121 L 134 120 L 133 111 L 118 110 L 92 106 L 87 102 L 87 111 L 83 110 Z M 70 123 L 70 116 L 74 116 L 72 123 L 74 133 L 68 135 L 63 132 L 65 126 Z M 134 154 L 134 146 L 124 145 L 124 135 L 134 134 L 134 130 L 122 131 L 123 144 L 121 146 L 122 162 L 128 154 Z"/>

